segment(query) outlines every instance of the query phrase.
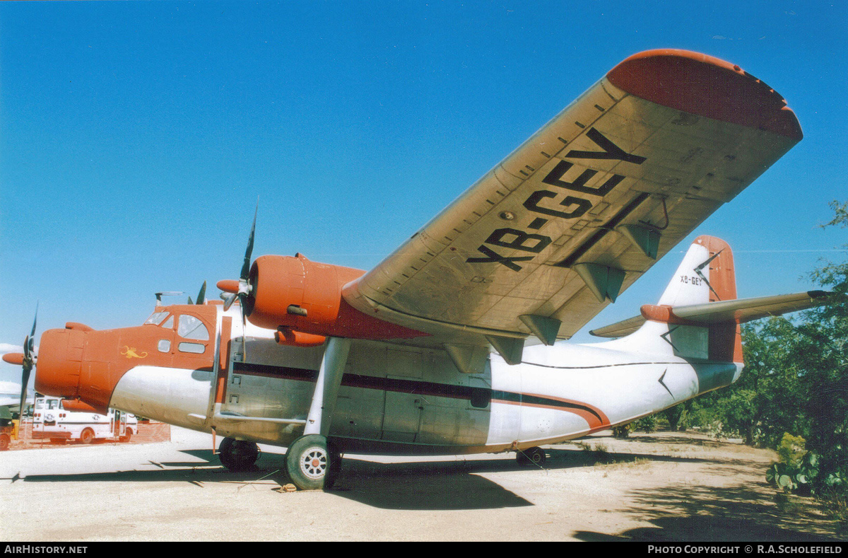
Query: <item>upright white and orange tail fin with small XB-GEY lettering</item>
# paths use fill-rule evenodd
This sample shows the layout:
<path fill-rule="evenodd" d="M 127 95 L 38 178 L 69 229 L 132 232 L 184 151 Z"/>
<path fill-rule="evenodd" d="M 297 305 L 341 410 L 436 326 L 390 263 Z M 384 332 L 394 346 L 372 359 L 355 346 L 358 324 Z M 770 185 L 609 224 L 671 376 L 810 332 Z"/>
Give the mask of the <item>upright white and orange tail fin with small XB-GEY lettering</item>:
<path fill-rule="evenodd" d="M 592 333 L 606 337 L 617 327 L 618 335 L 632 332 L 613 342 L 629 350 L 741 364 L 742 338 L 739 323 L 733 317 L 725 321 L 699 323 L 681 319 L 672 312 L 672 307 L 734 299 L 733 251 L 720 238 L 701 236 L 689 246 L 659 304 L 645 304 L 641 308 L 641 316 Z"/>

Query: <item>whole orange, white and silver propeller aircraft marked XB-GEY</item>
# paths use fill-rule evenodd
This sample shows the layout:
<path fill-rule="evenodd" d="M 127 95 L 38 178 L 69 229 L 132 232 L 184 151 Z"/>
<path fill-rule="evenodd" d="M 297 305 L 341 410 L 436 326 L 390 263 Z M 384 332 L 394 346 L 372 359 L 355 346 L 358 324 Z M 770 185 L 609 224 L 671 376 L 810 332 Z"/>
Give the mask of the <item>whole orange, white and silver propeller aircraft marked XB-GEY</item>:
<path fill-rule="evenodd" d="M 658 304 L 594 332 L 615 340 L 561 342 L 801 137 L 784 99 L 739 66 L 639 53 L 373 270 L 251 263 L 252 231 L 240 279 L 218 283 L 226 302 L 44 332 L 36 390 L 216 432 L 232 469 L 253 465 L 256 443 L 286 446 L 304 489 L 331 486 L 344 452 L 541 464 L 540 445 L 734 382 L 740 323 L 828 299 L 737 299 L 728 244 L 702 236 Z M 24 386 L 31 338 L 25 349 L 6 359 Z"/>

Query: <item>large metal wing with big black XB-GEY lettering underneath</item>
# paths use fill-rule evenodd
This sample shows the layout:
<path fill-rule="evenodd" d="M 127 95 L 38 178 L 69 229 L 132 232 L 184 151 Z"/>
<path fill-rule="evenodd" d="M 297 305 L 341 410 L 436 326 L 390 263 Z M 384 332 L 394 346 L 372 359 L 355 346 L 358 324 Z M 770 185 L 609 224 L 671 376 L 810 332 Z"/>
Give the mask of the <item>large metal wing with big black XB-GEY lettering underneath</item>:
<path fill-rule="evenodd" d="M 784 99 L 739 66 L 633 55 L 343 297 L 520 360 L 524 338 L 570 338 L 801 137 Z"/>

